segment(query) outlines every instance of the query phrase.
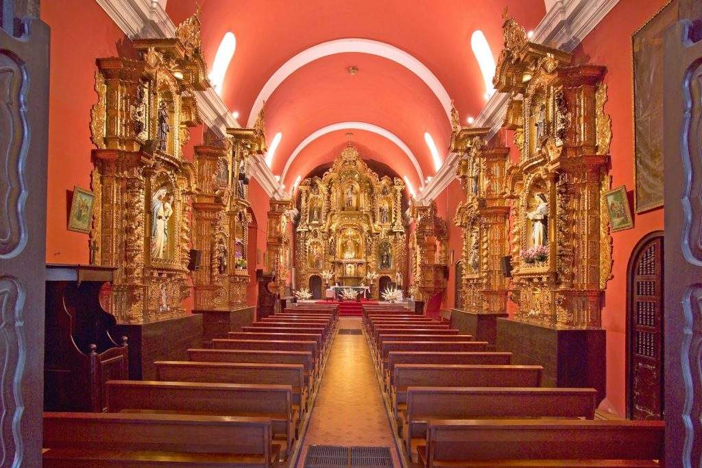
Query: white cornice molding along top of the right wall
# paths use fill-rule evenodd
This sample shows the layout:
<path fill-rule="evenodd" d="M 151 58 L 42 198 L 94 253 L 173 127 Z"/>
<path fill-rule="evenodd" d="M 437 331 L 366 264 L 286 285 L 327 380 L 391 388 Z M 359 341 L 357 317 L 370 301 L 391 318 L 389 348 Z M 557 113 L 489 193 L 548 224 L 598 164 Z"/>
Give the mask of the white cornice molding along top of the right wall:
<path fill-rule="evenodd" d="M 611 11 L 619 0 L 555 0 L 549 1 L 551 9 L 534 29 L 530 41 L 573 51 L 592 29 Z M 495 93 L 472 123 L 474 127 L 491 127 L 491 138 L 501 128 L 507 112 L 508 95 Z M 436 199 L 456 178 L 458 154 L 449 153 L 439 172 L 425 185 L 416 197 L 420 205 Z"/>

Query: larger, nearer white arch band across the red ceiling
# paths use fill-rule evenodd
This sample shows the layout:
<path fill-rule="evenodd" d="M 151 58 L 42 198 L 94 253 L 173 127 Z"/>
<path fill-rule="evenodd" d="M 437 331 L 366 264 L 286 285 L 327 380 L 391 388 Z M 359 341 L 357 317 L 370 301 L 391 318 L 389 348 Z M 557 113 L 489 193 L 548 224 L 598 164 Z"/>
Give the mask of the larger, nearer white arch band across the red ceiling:
<path fill-rule="evenodd" d="M 399 49 L 390 44 L 385 44 L 385 42 L 373 41 L 371 39 L 358 39 L 358 38 L 347 38 L 347 39 L 336 39 L 334 41 L 323 42 L 322 44 L 317 44 L 312 46 L 305 51 L 302 51 L 295 55 L 293 58 L 285 62 L 279 69 L 275 71 L 274 74 L 266 81 L 265 85 L 258 93 L 256 101 L 253 102 L 253 107 L 249 113 L 249 126 L 253 126 L 253 122 L 256 121 L 256 116 L 261 107 L 263 107 L 263 102 L 265 102 L 270 95 L 280 86 L 280 83 L 285 81 L 285 79 L 296 72 L 301 67 L 304 67 L 310 62 L 317 60 L 319 58 L 328 57 L 329 55 L 334 55 L 337 53 L 367 53 L 370 55 L 378 55 L 379 57 L 387 58 L 393 62 L 397 62 L 406 69 L 409 69 L 413 74 L 416 74 L 422 81 L 426 83 L 427 86 L 436 95 L 439 102 L 441 102 L 444 111 L 446 111 L 446 118 L 451 121 L 451 98 L 449 98 L 449 93 L 446 92 L 444 85 L 441 81 L 432 73 L 428 67 L 426 67 L 417 58 L 413 57 L 409 53 L 406 53 L 402 49 Z"/>

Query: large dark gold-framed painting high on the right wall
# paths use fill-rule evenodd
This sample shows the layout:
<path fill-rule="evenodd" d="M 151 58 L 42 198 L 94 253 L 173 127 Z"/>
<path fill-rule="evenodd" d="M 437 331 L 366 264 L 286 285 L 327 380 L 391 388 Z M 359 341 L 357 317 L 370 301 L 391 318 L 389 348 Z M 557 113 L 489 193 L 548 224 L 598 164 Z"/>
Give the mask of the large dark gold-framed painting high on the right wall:
<path fill-rule="evenodd" d="M 663 206 L 663 35 L 677 17 L 671 0 L 632 36 L 636 213 Z"/>

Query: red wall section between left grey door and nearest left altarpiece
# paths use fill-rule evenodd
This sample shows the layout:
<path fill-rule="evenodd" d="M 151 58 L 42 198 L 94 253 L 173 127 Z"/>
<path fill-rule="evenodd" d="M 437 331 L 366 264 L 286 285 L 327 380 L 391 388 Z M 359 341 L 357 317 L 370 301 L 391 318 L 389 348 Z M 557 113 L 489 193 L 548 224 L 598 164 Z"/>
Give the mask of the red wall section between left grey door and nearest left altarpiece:
<path fill-rule="evenodd" d="M 74 185 L 90 188 L 90 110 L 98 100 L 95 59 L 134 53 L 95 1 L 43 1 L 41 19 L 51 27 L 46 261 L 85 264 L 88 234 L 68 231 L 66 223 L 68 192 Z"/>

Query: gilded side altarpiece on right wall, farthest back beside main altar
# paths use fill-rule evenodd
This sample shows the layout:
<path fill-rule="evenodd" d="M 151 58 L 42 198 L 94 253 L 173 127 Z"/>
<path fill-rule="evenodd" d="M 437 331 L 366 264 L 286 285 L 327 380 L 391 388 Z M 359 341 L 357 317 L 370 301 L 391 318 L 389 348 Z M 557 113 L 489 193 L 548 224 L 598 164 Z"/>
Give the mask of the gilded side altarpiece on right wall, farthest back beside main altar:
<path fill-rule="evenodd" d="M 414 300 L 427 302 L 446 291 L 449 234 L 435 201 L 427 206 L 411 201 L 410 215 L 415 222 L 409 241 L 413 278 L 410 294 Z"/>

